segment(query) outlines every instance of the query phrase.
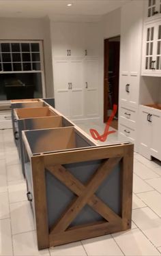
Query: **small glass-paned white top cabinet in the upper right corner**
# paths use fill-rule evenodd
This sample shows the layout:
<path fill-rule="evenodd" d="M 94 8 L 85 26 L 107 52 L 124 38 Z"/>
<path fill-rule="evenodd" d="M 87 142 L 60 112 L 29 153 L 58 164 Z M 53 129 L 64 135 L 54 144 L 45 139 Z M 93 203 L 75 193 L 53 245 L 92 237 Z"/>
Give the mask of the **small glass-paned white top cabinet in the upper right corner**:
<path fill-rule="evenodd" d="M 145 21 L 155 20 L 161 17 L 161 1 L 146 0 L 145 1 Z"/>

